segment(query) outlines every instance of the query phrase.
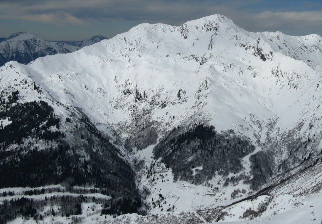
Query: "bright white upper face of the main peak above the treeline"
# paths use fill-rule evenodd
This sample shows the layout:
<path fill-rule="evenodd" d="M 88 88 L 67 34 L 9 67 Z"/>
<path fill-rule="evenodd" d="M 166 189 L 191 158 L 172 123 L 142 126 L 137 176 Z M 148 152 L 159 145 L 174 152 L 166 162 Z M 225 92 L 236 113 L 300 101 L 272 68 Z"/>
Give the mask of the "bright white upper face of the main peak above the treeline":
<path fill-rule="evenodd" d="M 164 133 L 197 119 L 219 132 L 237 130 L 254 143 L 265 143 L 268 135 L 286 138 L 301 124 L 305 139 L 320 110 L 315 94 L 319 57 L 310 58 L 310 64 L 296 60 L 274 50 L 277 43 L 272 46 L 261 35 L 218 15 L 180 27 L 141 24 L 75 54 L 39 59 L 26 69 L 56 100 L 82 108 L 102 130 L 112 125 L 124 136 L 146 126 Z M 317 38 L 311 37 L 319 46 Z M 315 45 L 307 47 L 319 55 Z"/>

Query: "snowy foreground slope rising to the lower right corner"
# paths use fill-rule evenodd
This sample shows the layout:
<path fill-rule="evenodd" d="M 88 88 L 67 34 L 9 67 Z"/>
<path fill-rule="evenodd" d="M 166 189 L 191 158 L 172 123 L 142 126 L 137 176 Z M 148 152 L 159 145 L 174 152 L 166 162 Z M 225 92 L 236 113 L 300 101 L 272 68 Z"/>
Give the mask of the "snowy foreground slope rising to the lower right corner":
<path fill-rule="evenodd" d="M 106 219 L 109 224 L 293 224 L 320 223 L 322 221 L 321 168 L 318 164 L 293 176 L 261 195 L 238 203 L 197 211 L 168 212 L 138 216 L 125 214 L 116 219 Z M 189 191 L 188 191 L 189 192 Z M 204 201 L 204 203 L 207 203 Z"/>

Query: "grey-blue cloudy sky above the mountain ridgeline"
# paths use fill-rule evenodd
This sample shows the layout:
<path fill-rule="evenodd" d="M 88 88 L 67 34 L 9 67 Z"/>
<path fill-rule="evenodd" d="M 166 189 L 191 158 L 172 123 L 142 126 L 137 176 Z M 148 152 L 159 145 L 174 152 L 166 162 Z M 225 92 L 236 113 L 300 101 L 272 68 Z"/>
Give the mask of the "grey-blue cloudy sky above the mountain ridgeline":
<path fill-rule="evenodd" d="M 321 0 L 0 0 L 0 37 L 25 31 L 45 40 L 111 38 L 144 22 L 181 25 L 211 14 L 253 32 L 322 35 Z"/>

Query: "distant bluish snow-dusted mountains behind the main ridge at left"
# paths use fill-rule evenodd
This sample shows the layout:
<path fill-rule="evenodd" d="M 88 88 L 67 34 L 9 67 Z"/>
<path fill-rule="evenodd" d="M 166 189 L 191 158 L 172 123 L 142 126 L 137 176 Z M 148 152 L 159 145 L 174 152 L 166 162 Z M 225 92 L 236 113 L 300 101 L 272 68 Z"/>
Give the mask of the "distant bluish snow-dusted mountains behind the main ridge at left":
<path fill-rule="evenodd" d="M 11 60 L 28 64 L 38 57 L 71 53 L 103 39 L 107 39 L 107 37 L 98 35 L 83 41 L 73 42 L 73 44 L 67 44 L 45 41 L 26 32 L 14 33 L 0 42 L 0 66 Z"/>

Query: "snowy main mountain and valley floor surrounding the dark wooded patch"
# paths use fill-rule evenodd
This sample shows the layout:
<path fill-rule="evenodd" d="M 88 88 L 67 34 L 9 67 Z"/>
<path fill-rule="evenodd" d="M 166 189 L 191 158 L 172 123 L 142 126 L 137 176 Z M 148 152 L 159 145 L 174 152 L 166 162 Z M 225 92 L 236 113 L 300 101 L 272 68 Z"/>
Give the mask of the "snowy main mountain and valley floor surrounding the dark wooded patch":
<path fill-rule="evenodd" d="M 107 135 L 115 131 L 139 189 L 148 189 L 149 214 L 167 214 L 168 204 L 174 213 L 197 211 L 254 194 L 256 178 L 265 176 L 260 187 L 276 184 L 321 158 L 321 49 L 318 35 L 251 33 L 221 15 L 179 27 L 141 24 L 71 54 L 7 63 L 1 91 L 15 78 L 30 79 L 48 100 L 80 108 Z M 195 123 L 248 139 L 255 151 L 241 160 L 243 169 L 201 185 L 173 181 L 171 167 L 151 158 L 153 149 L 174 128 Z M 192 176 L 202 166 L 192 167 Z M 233 176 L 239 181 L 223 186 Z M 153 207 L 152 199 L 166 207 Z"/>

